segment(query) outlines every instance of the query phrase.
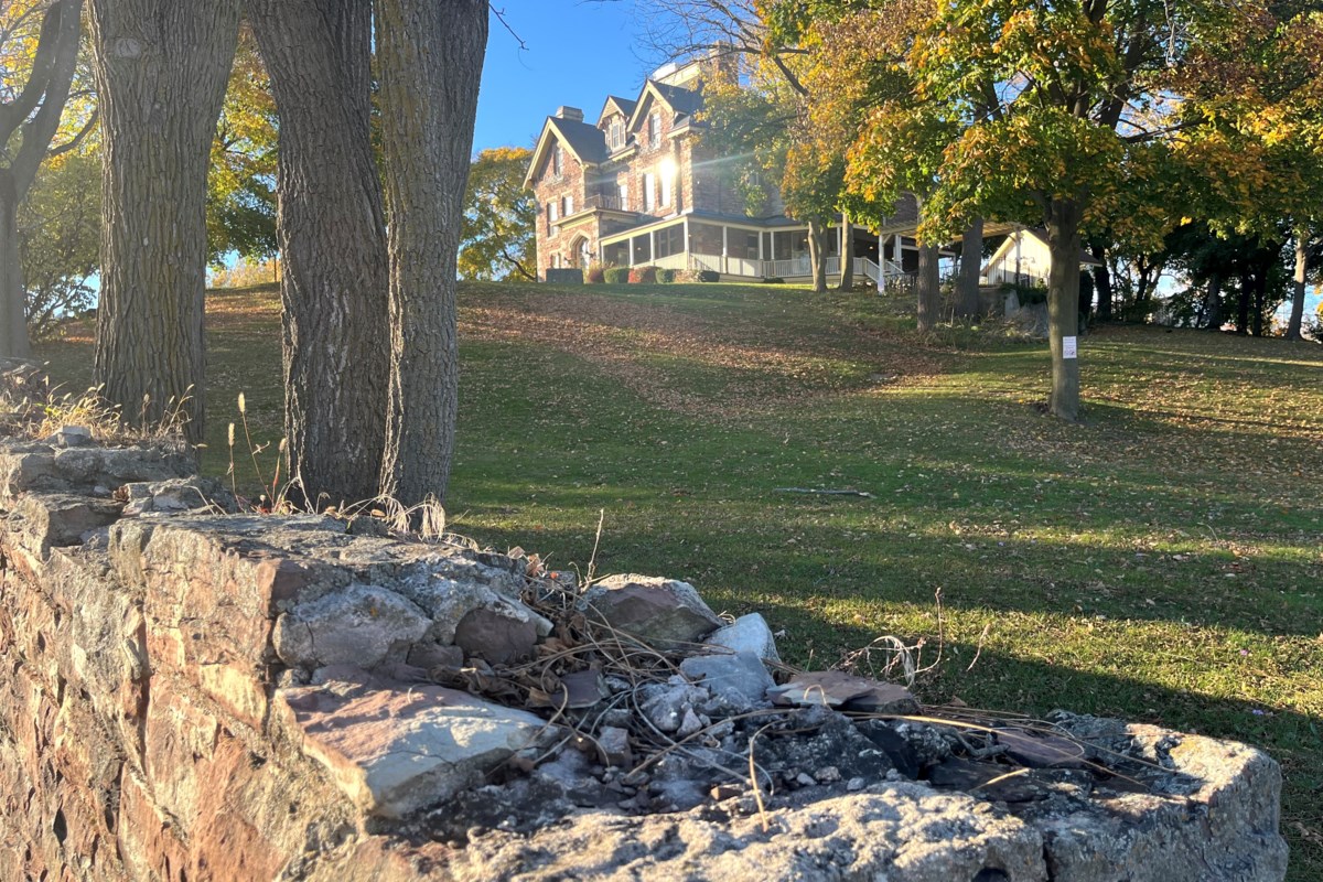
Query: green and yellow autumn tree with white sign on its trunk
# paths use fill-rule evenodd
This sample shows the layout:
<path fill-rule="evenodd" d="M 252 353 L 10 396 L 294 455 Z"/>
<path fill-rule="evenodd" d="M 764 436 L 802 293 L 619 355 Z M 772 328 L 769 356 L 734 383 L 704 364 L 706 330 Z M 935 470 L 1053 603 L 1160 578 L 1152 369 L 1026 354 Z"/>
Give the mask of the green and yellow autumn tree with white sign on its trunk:
<path fill-rule="evenodd" d="M 1066 339 L 1078 328 L 1084 231 L 1111 227 L 1159 247 L 1179 217 L 1168 194 L 1180 180 L 1242 177 L 1226 163 L 1185 161 L 1180 135 L 1200 124 L 1199 98 L 1225 99 L 1205 62 L 1253 66 L 1224 49 L 1237 33 L 1271 38 L 1265 19 L 1270 11 L 1207 0 L 954 0 L 914 41 L 916 103 L 964 123 L 943 148 L 923 229 L 954 235 L 979 214 L 1046 229 L 1056 415 L 1080 413 L 1080 361 Z"/>

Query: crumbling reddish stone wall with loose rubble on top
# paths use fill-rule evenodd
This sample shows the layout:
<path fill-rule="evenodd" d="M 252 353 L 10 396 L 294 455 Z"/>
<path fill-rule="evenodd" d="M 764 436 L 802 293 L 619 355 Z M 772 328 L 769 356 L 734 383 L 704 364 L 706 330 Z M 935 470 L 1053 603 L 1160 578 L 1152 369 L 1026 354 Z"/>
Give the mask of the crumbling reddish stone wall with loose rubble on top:
<path fill-rule="evenodd" d="M 685 583 L 565 590 L 225 497 L 169 450 L 0 444 L 0 879 L 1285 873 L 1254 748 L 1066 714 L 971 750 L 888 719 L 916 709 L 898 686 L 779 665 L 759 616 L 724 624 Z M 557 586 L 578 629 L 540 612 Z M 664 660 L 650 682 L 562 670 L 542 715 L 441 685 L 463 665 L 491 694 L 598 616 Z M 729 770 L 769 727 L 755 800 Z"/>

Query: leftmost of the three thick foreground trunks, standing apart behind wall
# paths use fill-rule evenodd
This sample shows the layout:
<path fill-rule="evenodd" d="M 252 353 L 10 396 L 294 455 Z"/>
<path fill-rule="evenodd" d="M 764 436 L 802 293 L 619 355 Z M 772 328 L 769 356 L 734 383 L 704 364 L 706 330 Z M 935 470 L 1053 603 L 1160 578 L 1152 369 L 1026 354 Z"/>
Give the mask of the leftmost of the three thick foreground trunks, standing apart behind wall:
<path fill-rule="evenodd" d="M 202 438 L 206 171 L 238 0 L 91 0 L 102 138 L 95 382 L 124 419 Z"/>

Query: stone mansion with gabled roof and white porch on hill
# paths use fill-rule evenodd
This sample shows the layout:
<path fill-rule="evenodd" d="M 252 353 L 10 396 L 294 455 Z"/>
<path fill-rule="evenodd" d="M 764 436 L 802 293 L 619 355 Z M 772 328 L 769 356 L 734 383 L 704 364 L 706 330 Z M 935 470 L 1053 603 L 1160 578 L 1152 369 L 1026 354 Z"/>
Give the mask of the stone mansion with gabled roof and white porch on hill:
<path fill-rule="evenodd" d="M 746 213 L 732 182 L 736 163 L 699 138 L 704 82 L 734 77 L 733 61 L 714 53 L 667 65 L 636 98 L 607 97 L 595 123 L 574 107 L 546 119 L 524 181 L 538 206 L 538 278 L 594 263 L 710 270 L 733 279 L 810 275 L 807 225 L 786 217 L 773 190 L 763 214 Z M 877 280 L 917 267 L 913 204 L 897 214 L 881 230 L 856 230 L 849 246 L 856 275 Z M 835 231 L 828 275 L 840 272 L 844 237 Z"/>

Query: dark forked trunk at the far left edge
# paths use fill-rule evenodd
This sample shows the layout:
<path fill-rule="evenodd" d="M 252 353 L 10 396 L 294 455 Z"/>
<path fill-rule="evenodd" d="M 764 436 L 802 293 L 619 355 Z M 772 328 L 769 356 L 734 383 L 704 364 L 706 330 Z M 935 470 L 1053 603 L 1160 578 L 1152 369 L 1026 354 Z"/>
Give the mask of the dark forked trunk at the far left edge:
<path fill-rule="evenodd" d="M 81 16 L 82 0 L 56 0 L 46 7 L 28 81 L 13 100 L 0 104 L 0 145 L 7 147 L 9 160 L 0 168 L 0 358 L 32 356 L 17 239 L 19 204 L 26 198 L 60 128 L 78 63 Z M 15 135 L 20 140 L 11 156 L 8 147 Z"/>

